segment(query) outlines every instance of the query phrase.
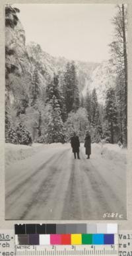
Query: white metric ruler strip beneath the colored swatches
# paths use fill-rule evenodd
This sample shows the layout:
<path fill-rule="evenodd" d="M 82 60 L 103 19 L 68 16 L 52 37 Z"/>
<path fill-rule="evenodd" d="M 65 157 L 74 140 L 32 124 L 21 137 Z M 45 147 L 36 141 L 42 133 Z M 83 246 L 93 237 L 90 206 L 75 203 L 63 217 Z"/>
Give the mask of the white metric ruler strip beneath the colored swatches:
<path fill-rule="evenodd" d="M 15 245 L 16 256 L 48 255 L 113 255 L 117 256 L 118 245 Z"/>

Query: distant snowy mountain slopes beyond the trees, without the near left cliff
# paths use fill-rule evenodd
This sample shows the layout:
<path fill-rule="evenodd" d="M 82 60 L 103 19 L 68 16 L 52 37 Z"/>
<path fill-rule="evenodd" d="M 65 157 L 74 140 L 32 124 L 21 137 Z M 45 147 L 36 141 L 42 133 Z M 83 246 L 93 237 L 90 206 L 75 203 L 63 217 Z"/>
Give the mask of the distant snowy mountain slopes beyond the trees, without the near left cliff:
<path fill-rule="evenodd" d="M 28 56 L 32 65 L 39 64 L 40 72 L 44 77 L 53 76 L 53 73 L 61 73 L 65 69 L 67 62 L 66 58 L 55 58 L 44 52 L 39 44 L 32 42 L 26 46 Z M 79 91 L 83 96 L 86 91 L 92 91 L 96 88 L 98 101 L 104 103 L 106 90 L 109 87 L 114 87 L 116 83 L 116 75 L 113 72 L 112 64 L 109 61 L 104 61 L 101 64 L 94 62 L 81 62 L 75 60 L 77 69 L 77 78 L 79 81 Z"/>

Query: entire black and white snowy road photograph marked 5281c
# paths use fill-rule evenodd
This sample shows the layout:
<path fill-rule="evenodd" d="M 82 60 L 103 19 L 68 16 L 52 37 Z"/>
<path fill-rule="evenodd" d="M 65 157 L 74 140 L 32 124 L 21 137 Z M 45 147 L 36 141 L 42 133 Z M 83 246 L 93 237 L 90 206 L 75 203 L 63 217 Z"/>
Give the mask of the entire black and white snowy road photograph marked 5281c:
<path fill-rule="evenodd" d="M 127 5 L 5 5 L 5 220 L 127 220 Z"/>

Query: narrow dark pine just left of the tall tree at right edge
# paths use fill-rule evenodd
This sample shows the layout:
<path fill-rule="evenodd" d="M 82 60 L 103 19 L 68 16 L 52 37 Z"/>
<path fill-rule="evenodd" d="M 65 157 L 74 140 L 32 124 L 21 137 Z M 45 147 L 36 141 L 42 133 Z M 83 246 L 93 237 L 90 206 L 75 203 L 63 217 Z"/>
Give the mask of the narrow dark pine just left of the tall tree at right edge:
<path fill-rule="evenodd" d="M 107 132 L 110 132 L 110 143 L 114 144 L 114 136 L 117 128 L 117 107 L 116 97 L 113 88 L 108 89 L 106 93 L 105 118 L 108 121 Z"/>

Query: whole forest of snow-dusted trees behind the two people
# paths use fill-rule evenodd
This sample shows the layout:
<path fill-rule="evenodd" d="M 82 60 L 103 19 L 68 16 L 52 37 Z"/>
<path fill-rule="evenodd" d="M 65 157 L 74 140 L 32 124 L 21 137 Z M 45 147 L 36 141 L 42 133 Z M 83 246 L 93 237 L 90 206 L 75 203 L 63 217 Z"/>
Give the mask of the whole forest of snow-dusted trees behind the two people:
<path fill-rule="evenodd" d="M 14 29 L 18 9 L 7 6 L 6 26 Z M 112 64 L 116 73 L 116 87 L 106 91 L 105 105 L 98 103 L 96 89 L 87 91 L 83 97 L 79 91 L 76 65 L 67 62 L 63 71 L 49 77 L 48 84 L 40 87 L 39 66 L 36 65 L 28 91 L 23 87 L 19 99 L 11 102 L 11 75 L 20 77 L 17 67 L 6 62 L 5 97 L 5 140 L 13 144 L 31 145 L 32 142 L 69 142 L 73 132 L 77 132 L 81 142 L 89 130 L 92 142 L 105 139 L 109 143 L 119 140 L 127 146 L 127 10 L 117 6 L 114 17 L 114 42 Z M 6 48 L 5 58 L 14 51 Z M 14 92 L 15 94 L 15 92 Z"/>

